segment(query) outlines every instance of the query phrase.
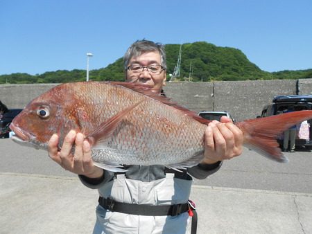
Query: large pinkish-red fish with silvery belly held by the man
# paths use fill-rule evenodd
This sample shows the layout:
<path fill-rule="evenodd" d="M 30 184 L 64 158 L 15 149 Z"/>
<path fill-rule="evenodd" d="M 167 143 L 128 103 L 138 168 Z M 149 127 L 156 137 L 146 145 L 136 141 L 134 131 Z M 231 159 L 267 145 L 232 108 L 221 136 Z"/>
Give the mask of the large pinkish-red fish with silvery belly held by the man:
<path fill-rule="evenodd" d="M 269 158 L 286 161 L 275 138 L 309 118 L 312 111 L 297 111 L 236 125 L 242 129 L 246 145 Z M 92 144 L 96 165 L 117 170 L 122 164 L 170 168 L 198 164 L 203 159 L 207 123 L 142 85 L 74 82 L 35 98 L 10 127 L 16 134 L 13 140 L 43 148 L 54 133 L 60 136 L 61 147 L 64 136 L 75 129 Z"/>

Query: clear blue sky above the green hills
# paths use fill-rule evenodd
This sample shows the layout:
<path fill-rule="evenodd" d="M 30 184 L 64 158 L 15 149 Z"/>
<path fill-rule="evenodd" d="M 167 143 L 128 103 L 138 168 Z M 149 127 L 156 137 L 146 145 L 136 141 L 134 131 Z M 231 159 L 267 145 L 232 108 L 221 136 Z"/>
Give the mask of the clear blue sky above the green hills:
<path fill-rule="evenodd" d="M 264 71 L 312 68 L 312 1 L 0 0 L 0 75 L 100 69 L 137 39 L 239 48 Z"/>

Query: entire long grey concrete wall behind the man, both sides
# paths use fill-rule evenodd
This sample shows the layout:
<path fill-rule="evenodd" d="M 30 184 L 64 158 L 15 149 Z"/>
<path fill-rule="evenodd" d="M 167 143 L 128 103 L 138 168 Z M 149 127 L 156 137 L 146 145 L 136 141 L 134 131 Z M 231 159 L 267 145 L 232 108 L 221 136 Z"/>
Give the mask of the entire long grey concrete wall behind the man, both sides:
<path fill-rule="evenodd" d="M 23 108 L 56 84 L 1 84 L 0 100 L 8 108 Z M 172 82 L 166 95 L 192 111 L 229 111 L 238 120 L 256 118 L 277 95 L 312 94 L 312 79 L 237 82 Z"/>

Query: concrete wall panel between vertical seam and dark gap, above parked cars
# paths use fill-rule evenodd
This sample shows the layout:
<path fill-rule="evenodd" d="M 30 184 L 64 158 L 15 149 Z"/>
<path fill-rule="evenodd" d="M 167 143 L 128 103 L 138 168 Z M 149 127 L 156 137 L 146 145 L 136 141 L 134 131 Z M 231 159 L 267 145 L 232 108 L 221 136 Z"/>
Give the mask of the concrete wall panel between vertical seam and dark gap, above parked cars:
<path fill-rule="evenodd" d="M 227 110 L 238 120 L 256 118 L 277 95 L 296 94 L 296 80 L 217 82 L 214 110 Z"/>

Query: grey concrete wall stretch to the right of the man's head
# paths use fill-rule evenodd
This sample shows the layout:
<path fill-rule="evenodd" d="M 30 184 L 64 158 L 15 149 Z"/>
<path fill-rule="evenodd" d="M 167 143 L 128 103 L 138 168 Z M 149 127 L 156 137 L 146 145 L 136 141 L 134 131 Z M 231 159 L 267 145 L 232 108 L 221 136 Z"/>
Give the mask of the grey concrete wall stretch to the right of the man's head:
<path fill-rule="evenodd" d="M 305 85 L 312 86 L 312 80 Z M 193 111 L 229 111 L 238 120 L 256 118 L 277 95 L 296 94 L 297 80 L 168 83 L 167 96 Z"/>

